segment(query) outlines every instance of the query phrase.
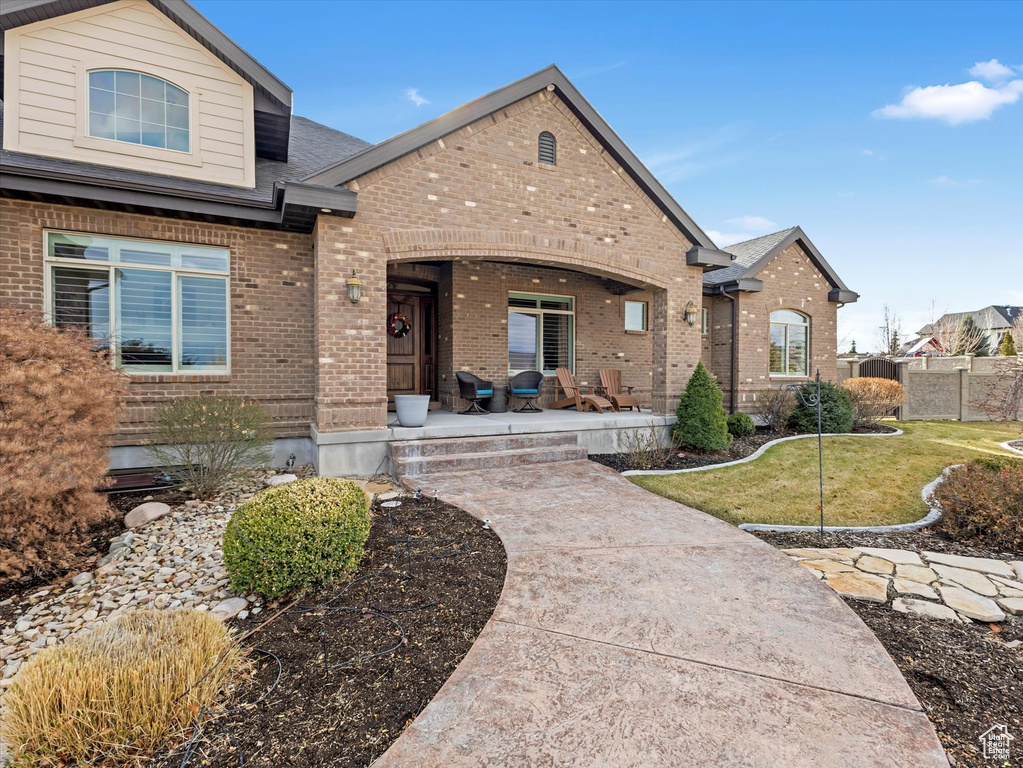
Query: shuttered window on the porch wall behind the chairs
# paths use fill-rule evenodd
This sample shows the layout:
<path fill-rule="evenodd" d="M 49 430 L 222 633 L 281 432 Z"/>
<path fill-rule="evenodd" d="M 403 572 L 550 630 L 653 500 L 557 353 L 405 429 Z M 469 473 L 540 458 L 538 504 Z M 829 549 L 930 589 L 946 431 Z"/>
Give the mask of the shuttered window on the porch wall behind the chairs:
<path fill-rule="evenodd" d="M 575 299 L 508 293 L 508 372 L 575 370 Z"/>

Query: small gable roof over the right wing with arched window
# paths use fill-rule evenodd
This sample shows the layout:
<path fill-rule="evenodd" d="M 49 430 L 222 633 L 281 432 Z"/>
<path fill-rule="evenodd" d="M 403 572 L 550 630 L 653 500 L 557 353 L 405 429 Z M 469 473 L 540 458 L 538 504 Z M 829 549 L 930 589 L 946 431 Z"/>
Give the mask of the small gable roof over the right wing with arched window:
<path fill-rule="evenodd" d="M 820 273 L 831 284 L 832 289 L 828 293 L 829 301 L 851 304 L 859 298 L 858 293 L 849 290 L 842 282 L 842 278 L 832 269 L 800 227 L 789 227 L 721 249 L 731 254 L 735 259 L 730 266 L 706 273 L 704 285 L 720 286 L 726 290 L 762 290 L 763 283 L 757 278 L 757 274 L 774 257 L 797 241 L 806 250 L 813 266 L 820 270 Z"/>

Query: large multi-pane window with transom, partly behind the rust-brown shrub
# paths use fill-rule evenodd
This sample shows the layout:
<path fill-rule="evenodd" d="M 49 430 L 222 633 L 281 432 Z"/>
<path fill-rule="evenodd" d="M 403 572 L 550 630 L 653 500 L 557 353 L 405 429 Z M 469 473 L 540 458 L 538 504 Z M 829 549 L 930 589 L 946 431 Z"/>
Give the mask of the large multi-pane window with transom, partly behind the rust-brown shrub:
<path fill-rule="evenodd" d="M 133 373 L 229 370 L 228 251 L 46 233 L 47 311 Z"/>

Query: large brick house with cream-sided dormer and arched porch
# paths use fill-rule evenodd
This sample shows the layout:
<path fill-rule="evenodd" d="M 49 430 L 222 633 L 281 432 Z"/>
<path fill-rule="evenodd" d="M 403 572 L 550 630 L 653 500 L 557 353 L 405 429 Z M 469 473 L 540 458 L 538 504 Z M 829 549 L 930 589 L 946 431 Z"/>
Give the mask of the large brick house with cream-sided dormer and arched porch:
<path fill-rule="evenodd" d="M 370 146 L 183 0 L 0 19 L 0 300 L 131 374 L 116 464 L 190 394 L 258 400 L 340 472 L 395 395 L 464 407 L 462 369 L 538 368 L 549 402 L 558 367 L 620 368 L 659 414 L 701 355 L 736 407 L 835 376 L 856 295 L 802 231 L 717 249 L 554 66 Z"/>

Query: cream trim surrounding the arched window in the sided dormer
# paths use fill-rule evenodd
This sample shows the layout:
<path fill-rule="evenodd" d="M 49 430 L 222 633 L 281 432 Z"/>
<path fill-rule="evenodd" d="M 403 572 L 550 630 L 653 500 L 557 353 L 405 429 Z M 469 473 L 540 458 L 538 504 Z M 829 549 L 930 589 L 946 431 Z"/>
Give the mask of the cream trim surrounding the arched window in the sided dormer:
<path fill-rule="evenodd" d="M 102 152 L 113 152 L 115 154 L 127 154 L 132 157 L 145 157 L 147 160 L 165 161 L 168 163 L 184 164 L 186 166 L 202 166 L 203 159 L 198 151 L 198 131 L 199 131 L 199 99 L 201 92 L 194 84 L 175 82 L 168 80 L 158 72 L 141 70 L 136 64 L 121 64 L 116 59 L 109 63 L 94 64 L 89 66 L 75 64 L 76 70 L 76 120 L 75 134 L 72 143 L 83 149 L 96 149 Z M 101 139 L 89 135 L 89 73 L 92 72 L 134 72 L 139 75 L 148 75 L 150 78 L 163 80 L 170 83 L 188 94 L 188 151 L 180 149 L 168 149 L 161 146 L 147 146 L 145 144 L 133 144 L 130 141 L 118 141 L 117 139 Z"/>

